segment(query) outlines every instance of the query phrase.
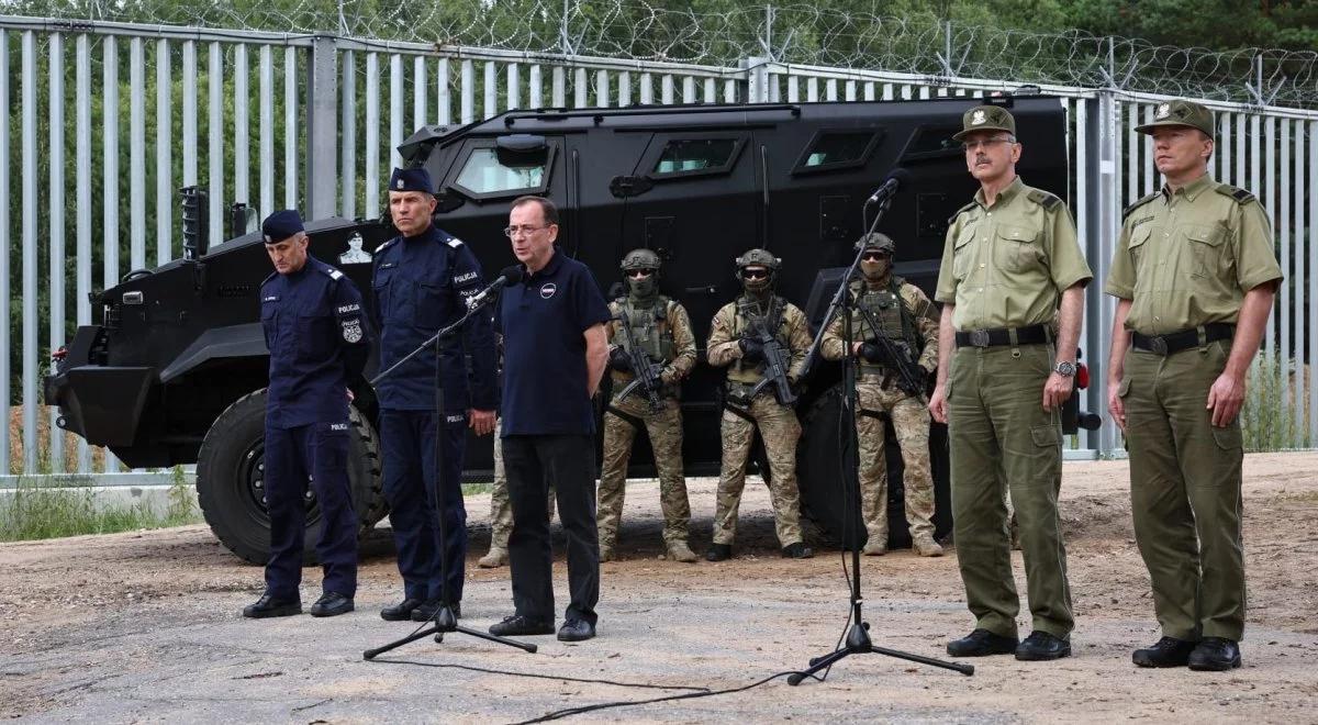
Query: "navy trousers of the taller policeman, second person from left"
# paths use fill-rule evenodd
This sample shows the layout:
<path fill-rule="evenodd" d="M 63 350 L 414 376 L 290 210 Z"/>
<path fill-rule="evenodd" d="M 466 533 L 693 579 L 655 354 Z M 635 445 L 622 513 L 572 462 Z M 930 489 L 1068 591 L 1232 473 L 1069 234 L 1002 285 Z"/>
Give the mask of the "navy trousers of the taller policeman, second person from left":
<path fill-rule="evenodd" d="M 439 481 L 439 506 L 444 514 L 445 540 L 440 540 L 435 517 L 435 414 L 428 410 L 380 411 L 380 435 L 385 455 L 385 500 L 398 548 L 398 572 L 407 598 L 440 600 L 442 572 L 448 569 L 448 602 L 463 601 L 467 564 L 467 508 L 463 505 L 463 453 L 467 417 L 445 414 L 444 469 Z M 443 560 L 440 560 L 443 552 Z"/>

